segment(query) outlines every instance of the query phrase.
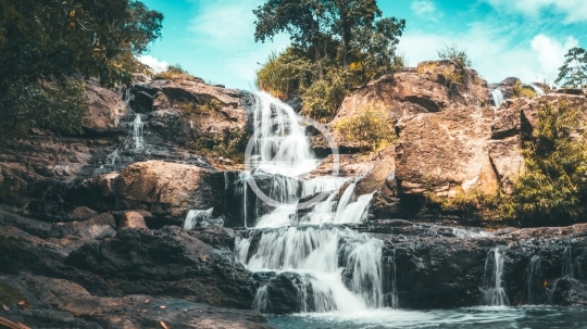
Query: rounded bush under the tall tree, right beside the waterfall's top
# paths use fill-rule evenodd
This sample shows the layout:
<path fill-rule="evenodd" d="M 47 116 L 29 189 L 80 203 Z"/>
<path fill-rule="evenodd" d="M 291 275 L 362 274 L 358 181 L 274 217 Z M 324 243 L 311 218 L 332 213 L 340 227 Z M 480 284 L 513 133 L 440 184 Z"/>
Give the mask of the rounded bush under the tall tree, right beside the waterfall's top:
<path fill-rule="evenodd" d="M 330 72 L 305 91 L 301 113 L 316 121 L 328 122 L 336 114 L 347 92 L 344 74 Z"/>

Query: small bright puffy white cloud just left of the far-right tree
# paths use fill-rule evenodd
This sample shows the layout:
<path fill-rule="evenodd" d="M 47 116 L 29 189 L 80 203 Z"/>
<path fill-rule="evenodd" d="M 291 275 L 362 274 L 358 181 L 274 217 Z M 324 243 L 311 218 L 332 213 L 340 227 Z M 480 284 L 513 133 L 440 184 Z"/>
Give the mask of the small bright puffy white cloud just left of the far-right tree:
<path fill-rule="evenodd" d="M 544 34 L 539 34 L 534 37 L 530 45 L 540 65 L 541 74 L 552 79 L 558 75 L 559 67 L 563 64 L 564 55 L 569 49 L 577 47 L 578 41 L 573 36 L 570 36 L 563 45 Z"/>

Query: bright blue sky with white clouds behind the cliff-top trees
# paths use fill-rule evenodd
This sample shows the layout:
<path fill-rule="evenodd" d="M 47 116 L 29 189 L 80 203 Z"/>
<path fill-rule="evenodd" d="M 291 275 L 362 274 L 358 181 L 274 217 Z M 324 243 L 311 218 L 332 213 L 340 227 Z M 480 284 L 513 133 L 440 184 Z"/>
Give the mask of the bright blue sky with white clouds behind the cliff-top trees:
<path fill-rule="evenodd" d="M 142 0 L 165 15 L 162 39 L 142 61 L 180 64 L 229 88 L 254 89 L 255 71 L 289 43 L 254 42 L 252 10 L 263 0 Z M 587 0 L 378 0 L 384 16 L 405 18 L 399 51 L 410 66 L 444 45 L 466 50 L 482 77 L 552 83 L 566 50 L 587 47 Z"/>

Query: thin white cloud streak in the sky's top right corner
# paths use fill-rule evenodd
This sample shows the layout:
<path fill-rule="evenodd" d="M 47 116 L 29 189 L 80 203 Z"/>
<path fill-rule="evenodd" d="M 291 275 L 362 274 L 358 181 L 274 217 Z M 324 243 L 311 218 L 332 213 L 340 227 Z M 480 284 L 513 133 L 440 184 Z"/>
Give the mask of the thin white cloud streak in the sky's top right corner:
<path fill-rule="evenodd" d="M 536 16 L 542 10 L 555 11 L 565 16 L 564 23 L 587 21 L 585 0 L 485 0 L 498 11 L 517 12 L 526 16 Z"/>

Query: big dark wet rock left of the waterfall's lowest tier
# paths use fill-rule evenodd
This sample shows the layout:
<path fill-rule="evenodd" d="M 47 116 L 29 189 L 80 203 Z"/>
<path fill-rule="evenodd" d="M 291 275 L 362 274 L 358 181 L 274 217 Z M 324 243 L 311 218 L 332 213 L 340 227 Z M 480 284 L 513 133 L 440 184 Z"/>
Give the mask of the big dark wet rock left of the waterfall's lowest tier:
<path fill-rule="evenodd" d="M 112 239 L 72 252 L 65 264 L 101 277 L 80 282 L 93 292 L 165 294 L 223 307 L 252 305 L 252 281 L 232 251 L 215 249 L 178 227 L 123 228 Z"/>

